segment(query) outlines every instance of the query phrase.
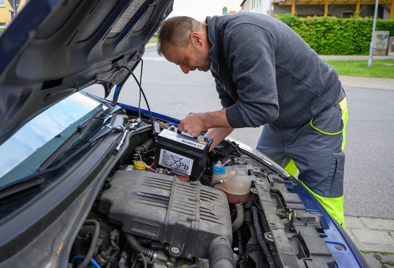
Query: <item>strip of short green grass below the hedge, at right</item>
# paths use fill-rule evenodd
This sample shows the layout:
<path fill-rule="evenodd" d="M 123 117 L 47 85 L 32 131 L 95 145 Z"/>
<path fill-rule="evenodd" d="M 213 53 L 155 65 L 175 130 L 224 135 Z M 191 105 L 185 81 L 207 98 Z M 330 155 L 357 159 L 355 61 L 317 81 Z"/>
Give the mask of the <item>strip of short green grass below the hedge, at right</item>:
<path fill-rule="evenodd" d="M 368 68 L 368 61 L 324 61 L 332 65 L 339 75 L 394 78 L 394 59 L 377 59 Z"/>

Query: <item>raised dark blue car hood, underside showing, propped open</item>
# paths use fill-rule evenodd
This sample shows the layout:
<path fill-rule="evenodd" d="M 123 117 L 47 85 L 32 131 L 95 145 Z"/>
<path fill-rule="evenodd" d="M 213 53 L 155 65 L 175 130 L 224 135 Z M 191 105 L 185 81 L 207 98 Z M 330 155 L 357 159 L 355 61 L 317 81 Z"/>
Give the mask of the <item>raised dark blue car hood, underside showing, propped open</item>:
<path fill-rule="evenodd" d="M 172 3 L 30 0 L 0 38 L 0 144 L 76 91 L 122 85 L 130 74 L 115 66 L 134 70 Z"/>

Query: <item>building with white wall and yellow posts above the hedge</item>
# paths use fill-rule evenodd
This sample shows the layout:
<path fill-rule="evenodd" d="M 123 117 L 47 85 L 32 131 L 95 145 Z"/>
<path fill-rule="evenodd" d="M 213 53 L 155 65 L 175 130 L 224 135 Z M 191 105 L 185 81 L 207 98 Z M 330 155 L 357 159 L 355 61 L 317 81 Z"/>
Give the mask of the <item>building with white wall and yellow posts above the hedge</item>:
<path fill-rule="evenodd" d="M 374 16 L 374 0 L 243 0 L 242 11 L 273 16 L 293 13 L 299 17 L 335 16 L 349 18 L 354 12 L 360 17 Z M 394 0 L 379 0 L 378 16 L 393 19 Z"/>

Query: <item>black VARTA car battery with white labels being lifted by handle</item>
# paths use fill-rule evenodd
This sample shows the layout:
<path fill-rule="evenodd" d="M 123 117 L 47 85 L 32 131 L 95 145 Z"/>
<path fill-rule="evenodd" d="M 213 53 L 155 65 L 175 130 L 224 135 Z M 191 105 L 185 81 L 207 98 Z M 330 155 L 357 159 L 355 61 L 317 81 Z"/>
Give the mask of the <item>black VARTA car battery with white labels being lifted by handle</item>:
<path fill-rule="evenodd" d="M 192 181 L 199 180 L 206 171 L 212 139 L 204 136 L 190 137 L 178 133 L 171 126 L 158 134 L 154 168 L 168 168 L 188 174 Z"/>

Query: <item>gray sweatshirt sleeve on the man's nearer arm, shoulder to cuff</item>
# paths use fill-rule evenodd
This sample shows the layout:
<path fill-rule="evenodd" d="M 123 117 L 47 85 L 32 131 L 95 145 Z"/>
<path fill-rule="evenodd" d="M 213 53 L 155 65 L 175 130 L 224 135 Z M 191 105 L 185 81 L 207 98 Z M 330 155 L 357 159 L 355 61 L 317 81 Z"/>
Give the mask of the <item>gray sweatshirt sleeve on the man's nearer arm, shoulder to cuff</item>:
<path fill-rule="evenodd" d="M 225 36 L 223 53 L 237 85 L 238 100 L 226 110 L 232 128 L 256 128 L 279 116 L 275 39 L 268 30 L 239 24 Z"/>

